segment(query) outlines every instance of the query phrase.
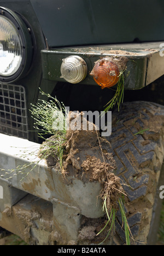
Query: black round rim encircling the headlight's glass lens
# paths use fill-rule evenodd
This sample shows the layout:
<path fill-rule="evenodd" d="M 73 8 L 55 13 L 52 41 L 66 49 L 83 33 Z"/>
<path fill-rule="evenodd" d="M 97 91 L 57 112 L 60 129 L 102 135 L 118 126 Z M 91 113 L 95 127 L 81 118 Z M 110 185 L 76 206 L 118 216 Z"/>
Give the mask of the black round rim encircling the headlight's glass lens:
<path fill-rule="evenodd" d="M 9 76 L 0 75 L 0 82 L 9 83 L 23 78 L 27 74 L 32 63 L 34 45 L 32 42 L 31 28 L 26 25 L 19 14 L 7 8 L 0 7 L 0 17 L 9 20 L 21 38 L 22 60 L 19 69 Z"/>

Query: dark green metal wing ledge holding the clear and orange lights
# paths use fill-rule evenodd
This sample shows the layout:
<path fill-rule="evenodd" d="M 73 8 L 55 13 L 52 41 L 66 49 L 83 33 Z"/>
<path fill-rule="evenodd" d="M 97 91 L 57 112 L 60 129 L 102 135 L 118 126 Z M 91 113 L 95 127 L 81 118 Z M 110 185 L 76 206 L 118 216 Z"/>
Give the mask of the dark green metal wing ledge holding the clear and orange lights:
<path fill-rule="evenodd" d="M 88 67 L 87 76 L 80 84 L 97 85 L 90 75 L 97 60 L 103 57 L 126 57 L 128 61 L 125 72 L 125 89 L 142 89 L 164 74 L 162 45 L 164 45 L 162 42 L 154 42 L 42 50 L 43 78 L 65 82 L 61 78 L 60 72 L 62 59 L 70 55 L 78 55 L 85 60 Z"/>

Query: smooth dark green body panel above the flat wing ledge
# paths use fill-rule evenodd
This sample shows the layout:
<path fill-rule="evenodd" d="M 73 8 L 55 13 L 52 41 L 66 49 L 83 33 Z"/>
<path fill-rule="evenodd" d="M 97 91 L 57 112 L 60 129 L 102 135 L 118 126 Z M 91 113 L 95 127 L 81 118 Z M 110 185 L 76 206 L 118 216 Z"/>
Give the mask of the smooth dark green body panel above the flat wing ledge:
<path fill-rule="evenodd" d="M 164 40 L 163 0 L 30 0 L 50 47 Z"/>

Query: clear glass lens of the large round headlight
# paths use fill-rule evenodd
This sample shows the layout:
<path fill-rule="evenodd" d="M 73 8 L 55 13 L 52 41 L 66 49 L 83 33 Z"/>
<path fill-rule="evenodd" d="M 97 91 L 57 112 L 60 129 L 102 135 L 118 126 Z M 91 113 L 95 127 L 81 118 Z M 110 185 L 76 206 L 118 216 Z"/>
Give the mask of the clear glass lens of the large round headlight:
<path fill-rule="evenodd" d="M 0 75 L 9 77 L 17 72 L 22 61 L 21 37 L 14 24 L 0 17 Z"/>

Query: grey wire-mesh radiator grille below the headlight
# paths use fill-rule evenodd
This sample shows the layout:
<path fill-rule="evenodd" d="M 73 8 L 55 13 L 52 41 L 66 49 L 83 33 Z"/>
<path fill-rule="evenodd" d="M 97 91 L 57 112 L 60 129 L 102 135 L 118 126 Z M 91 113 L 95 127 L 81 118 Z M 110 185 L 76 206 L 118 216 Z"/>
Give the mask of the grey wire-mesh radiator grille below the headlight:
<path fill-rule="evenodd" d="M 28 139 L 25 88 L 0 84 L 0 132 Z"/>

